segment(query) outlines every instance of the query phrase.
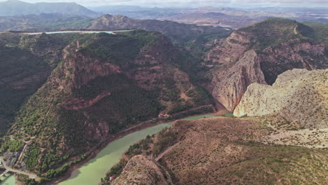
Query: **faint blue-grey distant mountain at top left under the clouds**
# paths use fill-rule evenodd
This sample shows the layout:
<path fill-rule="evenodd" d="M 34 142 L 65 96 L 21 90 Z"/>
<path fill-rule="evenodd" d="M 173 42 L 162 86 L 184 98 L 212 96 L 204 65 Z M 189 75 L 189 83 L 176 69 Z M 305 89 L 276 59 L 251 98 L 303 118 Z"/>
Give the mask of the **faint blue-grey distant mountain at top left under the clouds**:
<path fill-rule="evenodd" d="M 95 18 L 99 14 L 76 3 L 36 3 L 29 4 L 18 0 L 0 2 L 0 16 L 39 15 L 41 13 L 61 13 Z"/>

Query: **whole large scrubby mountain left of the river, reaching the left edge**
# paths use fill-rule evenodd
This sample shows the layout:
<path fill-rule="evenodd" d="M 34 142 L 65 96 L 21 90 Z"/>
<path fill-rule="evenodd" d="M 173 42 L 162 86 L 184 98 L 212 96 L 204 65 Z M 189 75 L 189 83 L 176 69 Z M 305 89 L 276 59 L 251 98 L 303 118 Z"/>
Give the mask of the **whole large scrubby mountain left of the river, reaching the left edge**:
<path fill-rule="evenodd" d="M 4 69 L 18 65 L 1 78 L 11 82 L 4 95 L 22 93 L 14 99 L 15 120 L 1 152 L 7 165 L 39 172 L 44 179 L 62 174 L 124 128 L 158 121 L 160 113 L 179 118 L 213 111 L 206 90 L 179 69 L 184 60 L 179 50 L 158 32 L 2 33 L 0 38 L 1 47 L 11 50 L 2 55 L 14 61 L 2 62 Z M 22 88 L 15 86 L 18 81 Z M 6 98 L 1 96 L 1 104 L 10 103 Z"/>

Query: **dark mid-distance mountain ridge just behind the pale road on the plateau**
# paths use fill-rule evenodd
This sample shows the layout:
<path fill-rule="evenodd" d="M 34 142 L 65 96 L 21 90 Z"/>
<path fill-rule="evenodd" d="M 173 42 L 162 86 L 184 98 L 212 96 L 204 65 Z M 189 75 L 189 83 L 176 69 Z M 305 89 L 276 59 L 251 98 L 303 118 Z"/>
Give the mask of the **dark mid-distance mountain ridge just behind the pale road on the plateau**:
<path fill-rule="evenodd" d="M 60 13 L 0 17 L 0 30 L 45 32 L 62 29 L 144 29 L 165 34 L 178 45 L 200 41 L 205 43 L 213 36 L 226 37 L 231 33 L 231 29 L 223 27 L 196 26 L 160 20 L 135 20 L 123 15 L 103 15 L 97 19 Z"/>

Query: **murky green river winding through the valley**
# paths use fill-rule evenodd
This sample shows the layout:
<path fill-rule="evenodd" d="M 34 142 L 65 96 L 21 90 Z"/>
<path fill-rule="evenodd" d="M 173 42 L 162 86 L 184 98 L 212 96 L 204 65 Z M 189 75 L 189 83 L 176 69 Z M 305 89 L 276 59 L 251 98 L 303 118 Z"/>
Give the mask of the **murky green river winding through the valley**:
<path fill-rule="evenodd" d="M 213 117 L 210 114 L 203 114 L 199 116 L 191 116 L 183 118 L 182 120 L 196 120 L 199 118 Z M 130 145 L 135 144 L 141 139 L 146 138 L 147 135 L 153 135 L 162 130 L 165 127 L 170 127 L 173 122 L 162 123 L 155 125 L 144 130 L 133 132 L 129 135 L 125 135 L 114 142 L 109 143 L 97 156 L 88 161 L 88 163 L 82 165 L 78 169 L 71 173 L 71 176 L 66 181 L 60 182 L 59 185 L 97 185 L 100 183 L 100 179 L 105 177 L 105 174 L 109 169 L 118 163 L 123 153 L 129 148 Z M 7 182 L 8 181 L 8 182 Z M 13 175 L 6 179 L 5 184 L 15 184 L 15 178 Z M 3 183 L 1 183 L 3 185 Z"/>

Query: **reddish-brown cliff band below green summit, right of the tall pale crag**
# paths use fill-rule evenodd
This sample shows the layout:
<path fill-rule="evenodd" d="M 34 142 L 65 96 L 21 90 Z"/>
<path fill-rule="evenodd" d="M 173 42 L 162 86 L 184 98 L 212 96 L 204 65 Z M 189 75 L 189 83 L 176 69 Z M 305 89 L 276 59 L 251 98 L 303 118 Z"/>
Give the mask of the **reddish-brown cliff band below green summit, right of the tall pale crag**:
<path fill-rule="evenodd" d="M 266 82 L 273 84 L 279 74 L 289 69 L 327 68 L 327 49 L 324 43 L 292 39 L 264 49 L 257 60 L 261 63 Z"/>

